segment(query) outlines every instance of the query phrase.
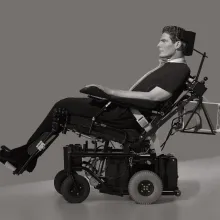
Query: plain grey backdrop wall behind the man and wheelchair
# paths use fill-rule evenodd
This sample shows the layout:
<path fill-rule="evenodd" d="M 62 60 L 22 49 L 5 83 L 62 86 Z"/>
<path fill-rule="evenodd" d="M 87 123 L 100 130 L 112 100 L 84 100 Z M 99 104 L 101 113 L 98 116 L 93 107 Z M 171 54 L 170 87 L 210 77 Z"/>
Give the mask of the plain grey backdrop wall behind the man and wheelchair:
<path fill-rule="evenodd" d="M 201 77 L 205 97 L 219 102 L 219 7 L 217 1 L 1 1 L 0 144 L 25 144 L 53 104 L 85 97 L 87 84 L 129 89 L 158 65 L 165 25 L 197 33 L 195 48 L 206 51 Z M 186 57 L 192 75 L 201 56 Z M 163 142 L 171 121 L 160 130 Z M 165 152 L 181 161 L 220 155 L 218 135 L 176 133 Z M 84 143 L 61 134 L 38 160 L 33 173 L 14 176 L 0 167 L 1 185 L 53 179 L 63 167 L 63 146 Z"/>

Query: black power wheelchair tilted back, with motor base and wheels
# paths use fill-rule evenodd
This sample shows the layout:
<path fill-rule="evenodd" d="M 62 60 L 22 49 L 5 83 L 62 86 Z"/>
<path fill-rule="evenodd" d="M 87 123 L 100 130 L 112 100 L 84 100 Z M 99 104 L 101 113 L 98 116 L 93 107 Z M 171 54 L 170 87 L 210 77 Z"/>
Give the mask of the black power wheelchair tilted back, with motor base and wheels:
<path fill-rule="evenodd" d="M 177 158 L 172 154 L 158 155 L 157 150 L 152 147 L 152 140 L 157 130 L 176 113 L 178 113 L 178 117 L 173 119 L 168 137 L 160 146 L 161 150 L 169 136 L 172 135 L 173 129 L 180 132 L 200 133 L 198 130 L 201 125 L 196 126 L 194 131 L 186 130 L 188 123 L 199 108 L 204 110 L 211 130 L 211 132 L 201 133 L 215 134 L 213 124 L 203 105 L 203 94 L 207 90 L 205 87 L 207 77 L 204 77 L 201 82 L 198 81 L 204 59 L 207 57 L 206 53 L 202 55 L 199 71 L 196 76 L 190 76 L 183 95 L 174 102 L 171 102 L 170 99 L 162 104 L 152 102 L 152 109 L 147 109 L 149 112 L 149 117 L 146 119 L 147 124 L 143 127 L 140 126 L 140 130 L 116 129 L 100 122 L 98 117 L 111 103 L 146 111 L 145 100 L 112 99 L 96 87 L 83 88 L 80 90 L 81 93 L 100 101 L 106 101 L 101 112 L 94 116 L 92 121 L 83 117 L 71 116 L 65 109 L 56 109 L 52 131 L 44 133 L 37 143 L 29 147 L 30 158 L 26 163 L 19 168 L 13 167 L 9 162 L 5 165 L 13 170 L 13 174 L 22 174 L 35 157 L 41 156 L 46 151 L 59 133 L 66 134 L 67 131 L 72 131 L 79 137 L 90 139 L 94 147 L 88 147 L 88 140 L 83 145 L 69 144 L 63 147 L 64 169 L 55 176 L 54 187 L 66 201 L 83 202 L 90 193 L 90 185 L 100 193 L 118 196 L 130 195 L 131 199 L 138 204 L 155 203 L 161 195 L 180 196 Z M 185 106 L 193 100 L 197 102 L 196 107 L 193 111 L 186 112 Z M 157 110 L 155 111 L 155 109 Z M 186 114 L 191 115 L 184 125 Z M 121 144 L 121 147 L 115 148 L 112 142 Z M 98 146 L 98 143 L 101 144 Z M 2 146 L 2 149 L 10 151 L 5 146 Z M 90 159 L 86 161 L 85 158 Z M 85 176 L 78 173 L 81 171 L 85 172 Z"/>

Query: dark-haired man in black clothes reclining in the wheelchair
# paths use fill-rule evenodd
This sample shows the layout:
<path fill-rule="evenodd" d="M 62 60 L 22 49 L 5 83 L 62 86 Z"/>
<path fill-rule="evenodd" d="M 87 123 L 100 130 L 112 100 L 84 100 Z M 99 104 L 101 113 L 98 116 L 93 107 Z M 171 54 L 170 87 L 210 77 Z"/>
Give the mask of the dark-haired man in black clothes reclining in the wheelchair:
<path fill-rule="evenodd" d="M 163 28 L 160 42 L 157 45 L 160 51 L 159 57 L 161 63 L 159 67 L 145 74 L 130 90 L 113 90 L 103 86 L 96 86 L 112 97 L 141 98 L 146 99 L 146 103 L 148 100 L 164 102 L 168 98 L 175 99 L 182 92 L 183 86 L 190 74 L 190 69 L 184 58 L 185 45 L 179 39 L 182 31 L 184 31 L 184 29 L 176 26 L 166 26 Z M 91 98 L 66 98 L 60 100 L 55 103 L 25 145 L 10 151 L 0 151 L 0 161 L 5 164 L 7 161 L 14 160 L 11 164 L 16 168 L 21 167 L 30 157 L 27 152 L 28 147 L 39 140 L 39 137 L 44 132 L 51 131 L 54 108 L 66 108 L 72 115 L 92 119 L 103 106 L 103 103 L 99 103 Z M 150 107 L 149 104 L 149 108 Z M 116 128 L 140 129 L 131 110 L 129 108 L 119 107 L 115 104 L 110 105 L 107 111 L 99 116 L 99 120 Z M 28 165 L 26 170 L 32 172 L 36 166 L 36 162 L 37 158 Z"/>

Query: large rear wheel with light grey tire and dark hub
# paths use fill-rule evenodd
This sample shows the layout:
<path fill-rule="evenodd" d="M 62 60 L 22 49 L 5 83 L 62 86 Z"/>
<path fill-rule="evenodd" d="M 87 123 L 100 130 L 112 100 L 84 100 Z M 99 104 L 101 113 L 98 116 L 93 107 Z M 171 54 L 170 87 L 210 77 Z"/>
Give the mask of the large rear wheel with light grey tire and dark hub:
<path fill-rule="evenodd" d="M 128 192 L 136 203 L 152 204 L 162 195 L 163 183 L 156 173 L 142 170 L 131 177 L 128 183 Z"/>

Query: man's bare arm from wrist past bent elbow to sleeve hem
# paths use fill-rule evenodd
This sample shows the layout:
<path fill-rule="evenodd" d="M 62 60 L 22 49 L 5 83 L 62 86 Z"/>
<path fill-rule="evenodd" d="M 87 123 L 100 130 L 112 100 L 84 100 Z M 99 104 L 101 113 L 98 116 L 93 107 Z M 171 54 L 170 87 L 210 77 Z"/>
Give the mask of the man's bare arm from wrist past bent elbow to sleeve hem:
<path fill-rule="evenodd" d="M 112 96 L 132 99 L 146 99 L 151 101 L 164 101 L 172 96 L 172 94 L 160 87 L 155 87 L 150 92 L 125 91 L 110 89 Z"/>

